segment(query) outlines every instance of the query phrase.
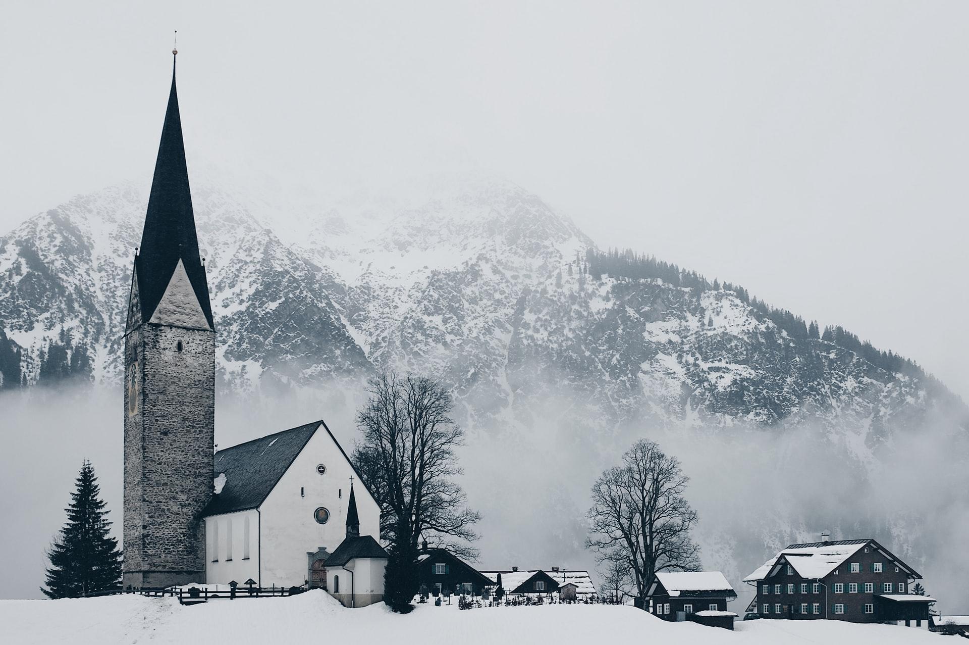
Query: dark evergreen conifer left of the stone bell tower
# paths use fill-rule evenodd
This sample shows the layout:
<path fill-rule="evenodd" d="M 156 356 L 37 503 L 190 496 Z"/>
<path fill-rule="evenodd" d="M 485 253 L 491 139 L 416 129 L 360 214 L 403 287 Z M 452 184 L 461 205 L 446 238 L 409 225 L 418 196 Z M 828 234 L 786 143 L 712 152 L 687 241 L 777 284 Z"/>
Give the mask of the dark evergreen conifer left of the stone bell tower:
<path fill-rule="evenodd" d="M 51 598 L 92 596 L 121 586 L 121 552 L 108 534 L 108 511 L 90 462 L 83 463 L 76 482 L 65 509 L 67 524 L 47 552 L 47 589 L 41 591 Z"/>

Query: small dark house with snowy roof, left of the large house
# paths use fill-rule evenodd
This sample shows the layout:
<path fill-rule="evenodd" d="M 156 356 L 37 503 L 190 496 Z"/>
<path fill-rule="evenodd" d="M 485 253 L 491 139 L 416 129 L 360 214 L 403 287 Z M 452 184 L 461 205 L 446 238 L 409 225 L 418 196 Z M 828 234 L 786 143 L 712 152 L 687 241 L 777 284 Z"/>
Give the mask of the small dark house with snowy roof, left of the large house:
<path fill-rule="evenodd" d="M 735 597 L 734 587 L 720 571 L 657 573 L 646 590 L 657 618 L 728 629 L 734 629 L 735 614 L 727 610 L 727 602 Z"/>

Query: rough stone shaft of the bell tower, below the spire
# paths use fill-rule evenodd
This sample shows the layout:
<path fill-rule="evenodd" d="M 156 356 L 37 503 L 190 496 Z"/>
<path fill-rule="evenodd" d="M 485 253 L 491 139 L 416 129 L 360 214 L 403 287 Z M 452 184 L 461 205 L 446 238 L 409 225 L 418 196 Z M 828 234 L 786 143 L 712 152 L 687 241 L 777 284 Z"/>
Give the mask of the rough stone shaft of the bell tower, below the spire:
<path fill-rule="evenodd" d="M 123 584 L 203 582 L 215 332 L 150 323 L 130 330 L 124 390 Z"/>

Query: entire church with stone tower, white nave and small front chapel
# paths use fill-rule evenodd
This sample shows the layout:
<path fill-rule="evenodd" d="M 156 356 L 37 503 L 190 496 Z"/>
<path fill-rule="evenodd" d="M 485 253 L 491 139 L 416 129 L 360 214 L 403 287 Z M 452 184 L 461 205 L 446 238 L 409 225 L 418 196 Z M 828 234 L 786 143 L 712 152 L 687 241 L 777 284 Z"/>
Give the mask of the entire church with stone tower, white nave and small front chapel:
<path fill-rule="evenodd" d="M 215 452 L 216 330 L 174 71 L 124 333 L 123 584 L 251 579 L 379 602 L 380 508 L 322 420 Z"/>

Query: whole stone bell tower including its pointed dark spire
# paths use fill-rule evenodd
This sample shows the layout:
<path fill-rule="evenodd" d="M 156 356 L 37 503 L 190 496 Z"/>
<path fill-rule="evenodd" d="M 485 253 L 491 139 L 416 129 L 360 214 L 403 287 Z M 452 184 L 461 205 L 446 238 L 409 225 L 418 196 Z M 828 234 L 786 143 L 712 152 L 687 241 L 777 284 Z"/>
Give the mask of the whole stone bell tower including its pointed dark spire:
<path fill-rule="evenodd" d="M 204 582 L 202 511 L 212 495 L 215 326 L 196 237 L 173 61 L 132 275 L 124 375 L 123 584 Z"/>

